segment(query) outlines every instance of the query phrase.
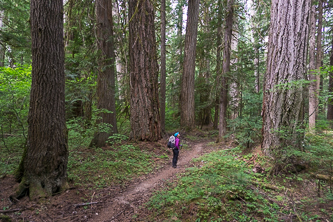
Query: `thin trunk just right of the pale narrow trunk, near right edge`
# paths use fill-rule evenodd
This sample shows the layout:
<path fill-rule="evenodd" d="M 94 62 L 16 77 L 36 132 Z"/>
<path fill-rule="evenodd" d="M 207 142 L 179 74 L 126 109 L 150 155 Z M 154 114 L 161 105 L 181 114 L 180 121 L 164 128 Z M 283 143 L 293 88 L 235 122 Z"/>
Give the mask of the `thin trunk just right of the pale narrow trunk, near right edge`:
<path fill-rule="evenodd" d="M 318 117 L 319 113 L 319 95 L 320 95 L 320 67 L 323 57 L 322 52 L 322 28 L 323 28 L 323 0 L 318 1 L 318 31 L 317 31 L 317 57 L 316 57 L 316 69 L 317 69 L 317 75 L 316 75 L 316 118 Z"/>

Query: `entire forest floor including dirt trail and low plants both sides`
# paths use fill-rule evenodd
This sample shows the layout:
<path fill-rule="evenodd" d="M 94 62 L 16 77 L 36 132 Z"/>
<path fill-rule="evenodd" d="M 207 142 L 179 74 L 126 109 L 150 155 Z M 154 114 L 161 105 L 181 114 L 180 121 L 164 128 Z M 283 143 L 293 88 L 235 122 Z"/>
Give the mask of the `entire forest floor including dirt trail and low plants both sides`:
<path fill-rule="evenodd" d="M 260 146 L 239 149 L 231 139 L 216 144 L 213 137 L 209 132 L 187 135 L 178 168 L 171 166 L 167 138 L 132 144 L 137 149 L 127 143 L 75 148 L 70 151 L 70 189 L 39 201 L 24 197 L 13 203 L 8 197 L 18 183 L 5 174 L 0 221 L 333 221 L 332 184 L 312 177 L 310 169 L 269 175 L 272 163 Z M 104 156 L 108 164 L 120 166 L 116 176 L 111 175 L 113 165 L 104 168 L 98 162 Z M 132 168 L 117 165 L 131 162 Z"/>

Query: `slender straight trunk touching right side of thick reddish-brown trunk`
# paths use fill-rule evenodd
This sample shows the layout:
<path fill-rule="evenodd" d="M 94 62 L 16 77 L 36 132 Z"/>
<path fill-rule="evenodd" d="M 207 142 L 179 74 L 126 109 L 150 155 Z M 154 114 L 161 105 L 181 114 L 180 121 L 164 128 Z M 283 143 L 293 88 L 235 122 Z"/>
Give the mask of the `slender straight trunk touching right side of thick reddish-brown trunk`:
<path fill-rule="evenodd" d="M 165 57 L 165 0 L 161 1 L 161 132 L 165 133 L 165 91 L 166 91 L 166 57 Z"/>

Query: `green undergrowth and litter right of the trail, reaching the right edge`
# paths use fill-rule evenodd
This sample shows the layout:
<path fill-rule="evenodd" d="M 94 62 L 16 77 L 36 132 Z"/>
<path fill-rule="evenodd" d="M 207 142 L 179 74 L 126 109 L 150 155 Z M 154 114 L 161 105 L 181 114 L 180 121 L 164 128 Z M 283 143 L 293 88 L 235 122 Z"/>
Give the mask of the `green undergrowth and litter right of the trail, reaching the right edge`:
<path fill-rule="evenodd" d="M 328 203 L 327 192 L 322 198 L 313 198 L 311 195 L 316 195 L 315 192 L 299 195 L 305 181 L 308 188 L 312 184 L 306 176 L 281 178 L 254 173 L 254 166 L 258 162 L 268 166 L 267 160 L 258 156 L 254 163 L 251 162 L 252 154 L 240 155 L 236 150 L 219 150 L 196 159 L 196 167 L 187 169 L 176 183 L 170 183 L 167 189 L 154 194 L 147 204 L 152 212 L 147 220 L 154 221 L 156 217 L 162 221 L 331 219 L 329 207 L 322 211 L 319 208 L 309 210 L 315 209 L 320 202 Z M 290 189 L 291 185 L 293 189 Z M 315 187 L 309 189 L 314 191 Z"/>

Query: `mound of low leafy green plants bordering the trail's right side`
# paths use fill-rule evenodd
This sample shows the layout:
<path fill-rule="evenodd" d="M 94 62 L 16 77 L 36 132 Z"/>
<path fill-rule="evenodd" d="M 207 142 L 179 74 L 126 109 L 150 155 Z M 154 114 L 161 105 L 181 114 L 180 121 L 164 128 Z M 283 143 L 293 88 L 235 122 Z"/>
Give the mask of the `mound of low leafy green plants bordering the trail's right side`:
<path fill-rule="evenodd" d="M 192 219 L 197 221 L 278 218 L 279 206 L 270 206 L 260 193 L 248 188 L 255 177 L 247 173 L 248 167 L 234 151 L 213 152 L 194 162 L 197 167 L 189 168 L 174 188 L 151 198 L 150 209 L 170 218 L 177 213 L 180 220 L 187 213 L 194 213 Z"/>

